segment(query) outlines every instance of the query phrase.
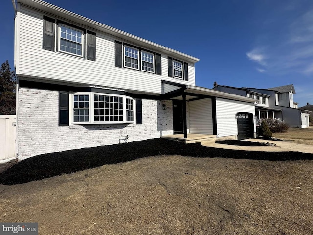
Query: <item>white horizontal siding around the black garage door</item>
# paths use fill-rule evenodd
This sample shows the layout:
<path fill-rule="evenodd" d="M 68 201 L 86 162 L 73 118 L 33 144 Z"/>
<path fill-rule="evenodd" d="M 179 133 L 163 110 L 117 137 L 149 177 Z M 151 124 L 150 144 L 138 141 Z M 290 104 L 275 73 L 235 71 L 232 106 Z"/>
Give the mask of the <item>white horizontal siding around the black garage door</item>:
<path fill-rule="evenodd" d="M 217 137 L 238 134 L 236 114 L 239 112 L 255 115 L 254 104 L 216 98 Z M 255 119 L 253 119 L 253 122 L 255 126 Z"/>

